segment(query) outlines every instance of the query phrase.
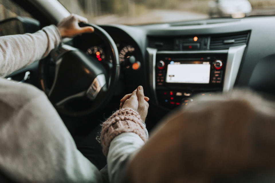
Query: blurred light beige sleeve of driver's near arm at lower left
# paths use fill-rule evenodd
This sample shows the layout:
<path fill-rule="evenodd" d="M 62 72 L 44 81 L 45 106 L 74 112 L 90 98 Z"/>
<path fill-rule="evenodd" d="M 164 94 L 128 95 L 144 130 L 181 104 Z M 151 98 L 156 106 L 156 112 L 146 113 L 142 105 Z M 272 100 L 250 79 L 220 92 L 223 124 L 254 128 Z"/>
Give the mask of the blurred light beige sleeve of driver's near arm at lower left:
<path fill-rule="evenodd" d="M 102 182 L 47 96 L 0 78 L 0 169 L 16 182 Z"/>

